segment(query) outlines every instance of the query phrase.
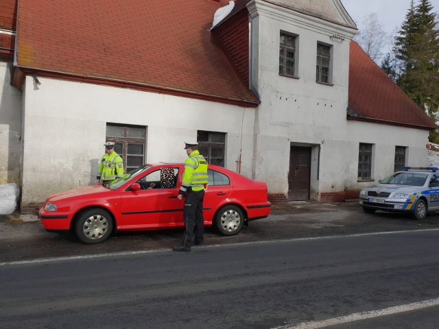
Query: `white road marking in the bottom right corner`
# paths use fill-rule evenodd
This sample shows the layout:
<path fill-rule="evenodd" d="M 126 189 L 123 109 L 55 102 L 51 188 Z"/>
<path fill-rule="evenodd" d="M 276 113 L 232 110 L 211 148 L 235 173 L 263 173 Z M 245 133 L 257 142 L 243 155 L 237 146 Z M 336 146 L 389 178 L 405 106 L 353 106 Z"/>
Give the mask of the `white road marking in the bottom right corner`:
<path fill-rule="evenodd" d="M 327 326 L 334 326 L 335 324 L 346 324 L 348 322 L 372 319 L 374 317 L 382 317 L 383 315 L 392 315 L 396 313 L 407 312 L 407 310 L 418 310 L 419 308 L 426 308 L 430 306 L 438 306 L 439 298 L 434 300 L 424 300 L 423 302 L 416 302 L 412 304 L 405 304 L 401 306 L 393 306 L 383 308 L 382 310 L 371 310 L 369 312 L 354 313 L 346 315 L 345 317 L 335 317 L 333 319 L 327 319 L 322 321 L 310 321 L 297 324 L 295 326 L 281 326 L 273 329 L 316 329 L 324 328 Z"/>

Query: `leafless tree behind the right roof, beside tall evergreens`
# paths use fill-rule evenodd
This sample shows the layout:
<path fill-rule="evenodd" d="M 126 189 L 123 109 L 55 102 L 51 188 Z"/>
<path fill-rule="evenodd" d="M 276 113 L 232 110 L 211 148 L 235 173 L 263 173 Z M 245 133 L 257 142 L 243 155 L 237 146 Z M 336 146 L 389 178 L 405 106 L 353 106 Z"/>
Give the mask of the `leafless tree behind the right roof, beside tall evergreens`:
<path fill-rule="evenodd" d="M 383 58 L 383 47 L 388 45 L 390 36 L 385 32 L 384 24 L 378 19 L 376 12 L 364 16 L 363 29 L 360 29 L 354 37 L 361 48 L 372 60 L 379 63 Z"/>

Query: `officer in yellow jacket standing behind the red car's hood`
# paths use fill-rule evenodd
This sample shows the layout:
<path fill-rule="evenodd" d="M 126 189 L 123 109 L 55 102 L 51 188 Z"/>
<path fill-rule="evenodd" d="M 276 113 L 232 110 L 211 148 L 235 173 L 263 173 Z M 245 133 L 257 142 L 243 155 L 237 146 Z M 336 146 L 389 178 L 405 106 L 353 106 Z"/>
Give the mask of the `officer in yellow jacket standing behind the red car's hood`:
<path fill-rule="evenodd" d="M 108 183 L 121 177 L 123 175 L 123 160 L 115 152 L 115 143 L 108 142 L 104 144 L 106 154 L 102 157 L 99 163 L 99 173 L 97 173 L 97 184 Z"/>

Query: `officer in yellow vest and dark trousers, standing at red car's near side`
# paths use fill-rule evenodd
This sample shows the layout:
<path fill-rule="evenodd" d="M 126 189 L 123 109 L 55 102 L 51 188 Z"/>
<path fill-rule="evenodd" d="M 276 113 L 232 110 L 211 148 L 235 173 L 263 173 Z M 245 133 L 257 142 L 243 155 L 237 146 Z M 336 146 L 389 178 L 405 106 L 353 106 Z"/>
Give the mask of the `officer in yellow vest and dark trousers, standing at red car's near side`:
<path fill-rule="evenodd" d="M 180 191 L 178 191 L 178 199 L 185 197 L 183 221 L 186 230 L 182 244 L 172 248 L 174 252 L 190 252 L 194 235 L 195 245 L 201 245 L 204 242 L 203 198 L 204 185 L 207 184 L 207 161 L 198 152 L 198 143 L 185 142 L 185 145 L 189 158 L 185 161 L 185 172 Z"/>

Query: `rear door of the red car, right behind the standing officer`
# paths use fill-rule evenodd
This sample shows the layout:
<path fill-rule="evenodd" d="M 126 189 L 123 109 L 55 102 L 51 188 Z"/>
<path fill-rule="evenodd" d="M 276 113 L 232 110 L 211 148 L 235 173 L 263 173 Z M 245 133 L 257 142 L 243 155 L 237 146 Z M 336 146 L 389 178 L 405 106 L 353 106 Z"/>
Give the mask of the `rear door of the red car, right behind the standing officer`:
<path fill-rule="evenodd" d="M 233 185 L 224 173 L 213 169 L 207 169 L 208 184 L 204 194 L 203 215 L 204 223 L 211 224 L 215 210 L 220 204 L 224 204 L 233 191 Z"/>

